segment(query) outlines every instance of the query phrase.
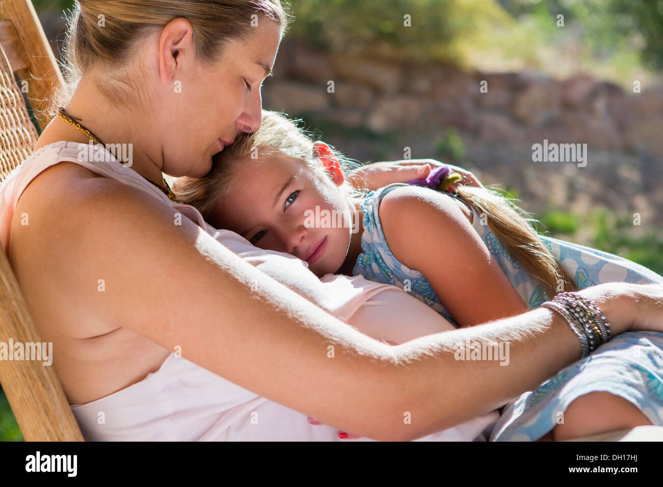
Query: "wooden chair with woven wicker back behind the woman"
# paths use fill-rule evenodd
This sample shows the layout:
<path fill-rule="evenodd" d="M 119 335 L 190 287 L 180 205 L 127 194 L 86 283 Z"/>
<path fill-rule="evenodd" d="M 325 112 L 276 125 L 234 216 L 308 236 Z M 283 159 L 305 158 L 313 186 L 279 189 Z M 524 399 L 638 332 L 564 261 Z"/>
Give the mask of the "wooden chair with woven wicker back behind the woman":
<path fill-rule="evenodd" d="M 45 103 L 64 87 L 64 80 L 30 0 L 0 0 L 0 46 L 0 176 L 4 180 L 37 141 L 23 93 L 43 130 L 49 121 Z M 21 81 L 21 89 L 13 74 Z M 7 256 L 0 254 L 0 342 L 40 343 Z M 0 384 L 27 441 L 83 441 L 52 366 L 33 360 L 0 360 Z"/>

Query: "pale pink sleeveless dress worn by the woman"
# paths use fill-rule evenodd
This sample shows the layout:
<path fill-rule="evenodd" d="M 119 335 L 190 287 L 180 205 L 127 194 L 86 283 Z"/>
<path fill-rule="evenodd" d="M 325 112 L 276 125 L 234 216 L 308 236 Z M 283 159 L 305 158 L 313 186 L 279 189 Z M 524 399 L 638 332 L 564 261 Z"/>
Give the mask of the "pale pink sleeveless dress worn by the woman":
<path fill-rule="evenodd" d="M 453 329 L 438 313 L 394 286 L 361 276 L 329 274 L 318 279 L 306 262 L 294 256 L 261 250 L 233 232 L 214 229 L 197 209 L 171 201 L 134 170 L 117 162 L 105 148 L 95 149 L 100 151 L 97 161 L 80 160 L 82 148 L 87 149 L 87 145 L 66 141 L 44 146 L 0 184 L 0 243 L 5 254 L 23 190 L 46 168 L 62 161 L 76 162 L 174 207 L 219 244 L 371 337 L 402 343 Z M 258 396 L 175 353 L 143 380 L 87 404 L 75 404 L 72 411 L 88 441 L 339 440 L 337 430 L 311 425 L 306 415 Z M 485 441 L 497 419 L 493 411 L 420 441 Z"/>

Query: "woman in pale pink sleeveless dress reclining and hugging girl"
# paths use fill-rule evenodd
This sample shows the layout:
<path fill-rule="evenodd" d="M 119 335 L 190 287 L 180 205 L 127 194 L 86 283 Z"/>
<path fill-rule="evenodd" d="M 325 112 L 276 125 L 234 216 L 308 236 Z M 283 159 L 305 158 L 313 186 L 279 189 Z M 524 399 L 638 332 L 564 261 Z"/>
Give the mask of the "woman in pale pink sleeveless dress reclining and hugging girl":
<path fill-rule="evenodd" d="M 341 277 L 309 286 L 301 261 L 284 266 L 172 204 L 162 172 L 203 176 L 213 154 L 259 125 L 284 27 L 278 1 L 79 4 L 70 59 L 80 81 L 3 184 L 1 210 L 3 246 L 88 439 L 335 437 L 300 413 L 373 439 L 415 439 L 485 415 L 579 358 L 576 335 L 550 309 L 389 347 L 311 301 L 365 319 L 365 304 L 393 290 Z M 90 137 L 131 144 L 133 159 L 86 158 Z M 663 331 L 660 286 L 581 294 L 613 335 Z M 383 317 L 402 329 L 428 323 L 424 334 L 447 329 L 413 301 L 396 292 L 380 309 L 397 303 L 401 314 Z M 511 366 L 459 366 L 453 344 L 465 340 L 508 341 Z M 184 388 L 206 394 L 183 398 Z"/>

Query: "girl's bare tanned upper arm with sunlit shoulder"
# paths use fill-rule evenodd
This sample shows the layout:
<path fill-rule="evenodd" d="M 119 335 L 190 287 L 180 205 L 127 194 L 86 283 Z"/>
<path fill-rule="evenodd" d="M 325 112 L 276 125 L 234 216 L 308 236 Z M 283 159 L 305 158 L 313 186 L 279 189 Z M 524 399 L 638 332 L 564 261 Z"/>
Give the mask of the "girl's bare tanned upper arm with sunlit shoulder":
<path fill-rule="evenodd" d="M 424 274 L 459 325 L 527 311 L 472 227 L 473 215 L 463 203 L 432 189 L 408 186 L 385 195 L 379 215 L 394 257 Z"/>

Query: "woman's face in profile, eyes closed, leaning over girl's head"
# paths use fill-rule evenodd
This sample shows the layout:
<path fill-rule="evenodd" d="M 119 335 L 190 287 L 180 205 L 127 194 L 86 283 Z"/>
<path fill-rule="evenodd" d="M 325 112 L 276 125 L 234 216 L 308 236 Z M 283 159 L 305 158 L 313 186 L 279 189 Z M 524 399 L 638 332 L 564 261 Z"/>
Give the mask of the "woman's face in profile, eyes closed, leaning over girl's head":
<path fill-rule="evenodd" d="M 252 29 L 245 40 L 227 42 L 214 64 L 200 62 L 192 44 L 186 49 L 186 34 L 179 41 L 180 50 L 173 46 L 178 52 L 171 60 L 176 68 L 170 78 L 162 75 L 161 111 L 153 117 L 162 135 L 166 174 L 202 177 L 210 171 L 214 154 L 240 132 L 260 127 L 262 82 L 274 65 L 282 28 L 260 17 Z"/>

